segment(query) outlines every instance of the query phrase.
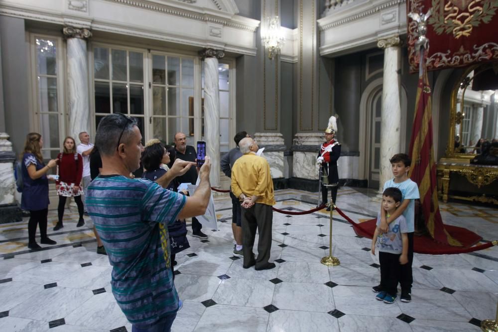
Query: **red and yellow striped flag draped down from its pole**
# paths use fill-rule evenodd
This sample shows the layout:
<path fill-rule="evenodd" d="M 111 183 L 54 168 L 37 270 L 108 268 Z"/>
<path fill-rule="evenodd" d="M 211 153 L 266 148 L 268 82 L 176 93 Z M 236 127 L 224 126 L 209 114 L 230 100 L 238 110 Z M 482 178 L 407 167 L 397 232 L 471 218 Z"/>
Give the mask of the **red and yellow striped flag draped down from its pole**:
<path fill-rule="evenodd" d="M 422 63 L 424 60 L 425 57 L 422 57 Z M 408 176 L 418 185 L 427 230 L 439 243 L 461 246 L 462 244 L 446 230 L 439 212 L 432 134 L 431 87 L 427 78 L 427 70 L 423 65 L 418 78 L 409 151 L 412 161 Z"/>

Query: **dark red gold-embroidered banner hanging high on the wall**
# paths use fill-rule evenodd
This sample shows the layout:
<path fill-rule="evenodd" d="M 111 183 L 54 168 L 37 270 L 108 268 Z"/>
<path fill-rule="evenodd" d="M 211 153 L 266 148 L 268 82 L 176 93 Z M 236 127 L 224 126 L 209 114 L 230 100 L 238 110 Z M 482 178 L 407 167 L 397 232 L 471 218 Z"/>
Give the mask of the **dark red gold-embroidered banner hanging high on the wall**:
<path fill-rule="evenodd" d="M 498 0 L 408 0 L 407 12 L 427 20 L 427 70 L 498 60 Z M 410 72 L 418 71 L 417 22 L 407 18 Z"/>

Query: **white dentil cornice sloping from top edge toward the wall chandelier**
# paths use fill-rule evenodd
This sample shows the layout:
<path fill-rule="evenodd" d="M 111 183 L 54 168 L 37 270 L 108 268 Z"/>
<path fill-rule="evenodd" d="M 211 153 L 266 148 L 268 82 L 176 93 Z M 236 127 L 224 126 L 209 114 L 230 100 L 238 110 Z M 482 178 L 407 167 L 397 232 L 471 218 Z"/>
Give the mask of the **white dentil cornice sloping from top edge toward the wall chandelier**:
<path fill-rule="evenodd" d="M 209 14 L 209 13 L 199 13 L 193 10 L 187 10 L 187 9 L 179 9 L 167 5 L 162 5 L 162 4 L 157 4 L 154 2 L 146 1 L 146 0 L 104 0 L 108 2 L 116 2 L 116 3 L 121 3 L 124 5 L 132 6 L 132 7 L 137 7 L 137 8 L 142 8 L 142 9 L 147 9 L 147 10 L 152 10 L 152 11 L 157 11 L 157 12 L 163 12 L 166 14 L 170 15 L 175 15 L 175 16 L 180 16 L 180 17 L 185 17 L 189 19 L 195 19 L 199 21 L 207 21 L 207 22 L 213 22 L 217 24 L 222 24 L 225 26 L 231 26 L 237 29 L 242 29 L 242 30 L 247 30 L 250 32 L 256 31 L 257 27 L 259 26 L 259 21 L 257 21 L 257 24 L 252 24 L 252 25 L 245 25 L 242 23 L 237 22 L 235 19 L 231 19 L 230 15 L 225 14 L 225 18 L 220 17 L 220 13 L 216 13 L 216 15 Z M 235 17 L 233 17 L 235 18 Z M 251 20 L 256 22 L 256 20 Z"/>

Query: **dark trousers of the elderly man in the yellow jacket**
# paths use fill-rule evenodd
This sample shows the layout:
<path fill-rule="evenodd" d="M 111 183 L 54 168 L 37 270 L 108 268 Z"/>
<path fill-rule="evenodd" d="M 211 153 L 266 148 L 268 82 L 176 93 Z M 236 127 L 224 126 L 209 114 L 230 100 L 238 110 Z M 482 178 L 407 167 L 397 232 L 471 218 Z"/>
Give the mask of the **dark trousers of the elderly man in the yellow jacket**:
<path fill-rule="evenodd" d="M 259 268 L 268 263 L 271 250 L 272 223 L 273 211 L 270 205 L 256 203 L 249 209 L 242 209 L 242 250 L 245 266 L 249 266 L 254 262 L 252 247 L 256 238 L 256 229 L 259 239 L 255 265 Z"/>

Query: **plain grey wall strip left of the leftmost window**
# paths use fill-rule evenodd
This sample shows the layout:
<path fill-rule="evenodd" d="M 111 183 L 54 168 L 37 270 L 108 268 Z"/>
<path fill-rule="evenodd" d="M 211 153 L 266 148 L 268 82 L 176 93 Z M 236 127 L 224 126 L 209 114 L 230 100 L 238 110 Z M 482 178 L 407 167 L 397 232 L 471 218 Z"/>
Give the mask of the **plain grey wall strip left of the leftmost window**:
<path fill-rule="evenodd" d="M 24 20 L 0 15 L 1 68 L 5 130 L 16 154 L 22 152 L 29 132 L 29 43 Z"/>

